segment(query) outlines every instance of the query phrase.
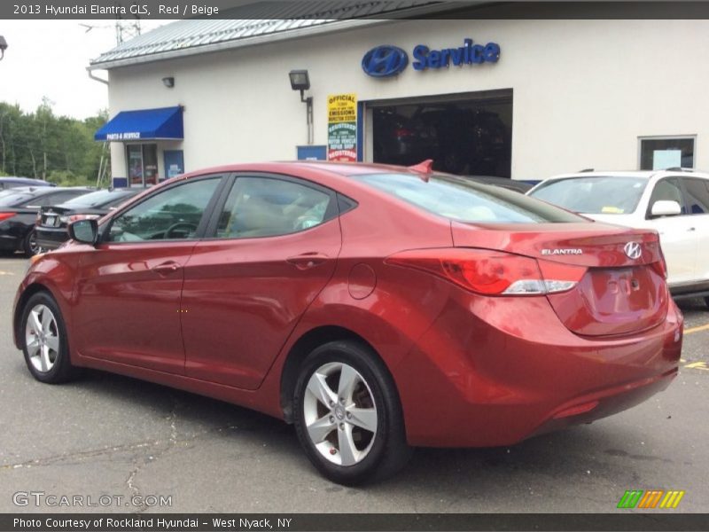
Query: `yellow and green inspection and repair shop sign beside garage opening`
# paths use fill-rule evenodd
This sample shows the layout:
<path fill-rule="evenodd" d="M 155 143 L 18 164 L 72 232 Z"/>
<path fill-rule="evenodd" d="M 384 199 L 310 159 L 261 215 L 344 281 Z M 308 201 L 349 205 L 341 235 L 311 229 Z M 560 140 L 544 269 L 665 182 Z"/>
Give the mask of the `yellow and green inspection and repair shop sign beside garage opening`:
<path fill-rule="evenodd" d="M 357 97 L 354 94 L 327 97 L 327 160 L 357 160 Z"/>

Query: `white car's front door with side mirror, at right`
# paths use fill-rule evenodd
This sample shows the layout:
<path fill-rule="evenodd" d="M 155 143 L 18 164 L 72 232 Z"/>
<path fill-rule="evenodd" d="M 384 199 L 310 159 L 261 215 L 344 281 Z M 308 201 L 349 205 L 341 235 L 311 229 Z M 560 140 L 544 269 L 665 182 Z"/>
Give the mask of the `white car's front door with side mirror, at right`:
<path fill-rule="evenodd" d="M 658 200 L 676 201 L 682 214 L 654 217 L 652 205 Z M 659 241 L 667 262 L 667 284 L 678 286 L 691 282 L 697 260 L 697 232 L 682 194 L 679 178 L 660 179 L 652 190 L 646 213 L 646 225 L 659 233 Z"/>

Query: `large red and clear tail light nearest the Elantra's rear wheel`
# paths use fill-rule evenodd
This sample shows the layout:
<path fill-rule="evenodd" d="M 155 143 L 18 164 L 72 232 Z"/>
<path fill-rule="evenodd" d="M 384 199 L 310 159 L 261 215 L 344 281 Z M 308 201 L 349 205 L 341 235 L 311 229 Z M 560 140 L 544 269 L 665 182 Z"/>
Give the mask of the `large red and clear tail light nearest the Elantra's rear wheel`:
<path fill-rule="evenodd" d="M 576 286 L 586 272 L 584 267 L 540 263 L 503 251 L 472 248 L 409 250 L 387 257 L 385 263 L 428 271 L 483 295 L 565 292 Z"/>

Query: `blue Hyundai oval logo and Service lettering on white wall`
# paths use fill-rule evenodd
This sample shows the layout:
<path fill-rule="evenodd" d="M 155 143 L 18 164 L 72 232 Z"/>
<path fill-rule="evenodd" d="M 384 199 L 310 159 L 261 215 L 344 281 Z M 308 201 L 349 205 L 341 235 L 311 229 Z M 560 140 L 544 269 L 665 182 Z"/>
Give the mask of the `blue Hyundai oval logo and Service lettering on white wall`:
<path fill-rule="evenodd" d="M 413 50 L 414 70 L 439 69 L 448 66 L 496 63 L 500 59 L 500 45 L 497 43 L 474 44 L 472 39 L 464 39 L 463 46 L 431 50 L 418 44 Z M 374 77 L 387 77 L 401 73 L 409 65 L 406 51 L 397 46 L 383 44 L 364 54 L 362 70 Z"/>

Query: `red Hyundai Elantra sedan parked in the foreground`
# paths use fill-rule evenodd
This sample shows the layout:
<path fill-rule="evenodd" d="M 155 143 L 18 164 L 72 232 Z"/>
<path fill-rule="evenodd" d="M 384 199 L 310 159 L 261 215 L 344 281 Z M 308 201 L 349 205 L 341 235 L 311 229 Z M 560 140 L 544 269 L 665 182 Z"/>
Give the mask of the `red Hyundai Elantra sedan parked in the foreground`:
<path fill-rule="evenodd" d="M 266 412 L 341 483 L 602 418 L 677 373 L 657 233 L 425 168 L 211 168 L 70 231 L 15 301 L 36 379 L 97 368 Z"/>

